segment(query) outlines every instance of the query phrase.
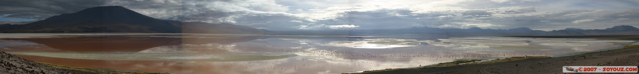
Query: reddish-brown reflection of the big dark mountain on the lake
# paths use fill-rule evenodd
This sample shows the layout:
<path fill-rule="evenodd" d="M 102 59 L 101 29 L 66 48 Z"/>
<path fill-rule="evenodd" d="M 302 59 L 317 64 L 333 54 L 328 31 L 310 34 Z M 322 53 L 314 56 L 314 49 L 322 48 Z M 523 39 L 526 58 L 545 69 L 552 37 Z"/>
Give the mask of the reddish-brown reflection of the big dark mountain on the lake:
<path fill-rule="evenodd" d="M 220 36 L 222 37 L 222 36 Z M 173 36 L 97 36 L 97 37 L 54 37 L 54 38 L 14 38 L 1 39 L 3 42 L 32 42 L 43 44 L 59 51 L 143 51 L 158 46 L 180 44 L 230 44 L 258 39 L 259 36 L 228 38 L 174 38 Z M 6 44 L 6 43 L 5 43 Z M 13 44 L 13 43 L 12 43 Z M 31 47 L 31 46 L 29 46 Z M 37 50 L 36 50 L 37 51 Z"/>

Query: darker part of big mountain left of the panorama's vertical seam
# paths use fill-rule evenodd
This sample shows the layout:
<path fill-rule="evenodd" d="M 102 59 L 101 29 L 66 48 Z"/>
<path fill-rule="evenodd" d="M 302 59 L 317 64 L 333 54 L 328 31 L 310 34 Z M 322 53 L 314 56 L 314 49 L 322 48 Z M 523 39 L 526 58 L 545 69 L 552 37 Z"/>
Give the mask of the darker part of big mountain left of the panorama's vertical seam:
<path fill-rule="evenodd" d="M 52 16 L 24 25 L 0 27 L 3 32 L 180 33 L 181 28 L 122 6 L 98 6 Z"/>

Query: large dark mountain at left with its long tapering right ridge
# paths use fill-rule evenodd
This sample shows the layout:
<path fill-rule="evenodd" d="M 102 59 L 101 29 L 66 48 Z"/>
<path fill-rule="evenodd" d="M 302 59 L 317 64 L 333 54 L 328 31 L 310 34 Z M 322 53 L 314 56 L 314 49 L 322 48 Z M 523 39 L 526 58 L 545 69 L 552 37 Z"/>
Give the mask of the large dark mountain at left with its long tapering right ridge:
<path fill-rule="evenodd" d="M 263 34 L 256 28 L 229 23 L 158 20 L 122 6 L 88 8 L 76 13 L 52 16 L 38 22 L 0 27 L 0 32 Z"/>

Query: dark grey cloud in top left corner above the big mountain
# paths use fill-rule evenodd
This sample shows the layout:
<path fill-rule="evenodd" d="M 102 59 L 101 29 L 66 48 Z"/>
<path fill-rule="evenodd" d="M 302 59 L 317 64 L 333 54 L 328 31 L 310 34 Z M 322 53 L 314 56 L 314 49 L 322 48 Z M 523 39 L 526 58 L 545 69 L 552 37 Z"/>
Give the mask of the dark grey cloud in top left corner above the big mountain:
<path fill-rule="evenodd" d="M 49 18 L 105 4 L 103 0 L 0 0 L 5 18 Z"/>

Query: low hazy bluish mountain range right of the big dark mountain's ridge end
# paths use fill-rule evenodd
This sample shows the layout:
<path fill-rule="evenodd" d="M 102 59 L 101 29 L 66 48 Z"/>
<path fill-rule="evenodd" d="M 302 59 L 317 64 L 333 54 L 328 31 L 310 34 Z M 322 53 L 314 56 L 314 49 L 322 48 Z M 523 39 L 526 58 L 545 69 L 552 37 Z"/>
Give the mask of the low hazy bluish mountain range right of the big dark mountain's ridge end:
<path fill-rule="evenodd" d="M 524 35 L 639 35 L 639 30 L 631 26 L 618 26 L 608 30 L 579 30 L 578 28 L 567 28 L 569 30 L 553 30 L 546 32 L 543 30 L 532 30 L 527 27 L 512 28 L 509 30 L 493 30 L 482 28 L 431 28 L 431 27 L 410 27 L 398 30 L 272 30 L 267 34 L 279 35 L 350 35 L 350 36 L 524 36 Z M 623 31 L 627 32 L 623 32 Z"/>

